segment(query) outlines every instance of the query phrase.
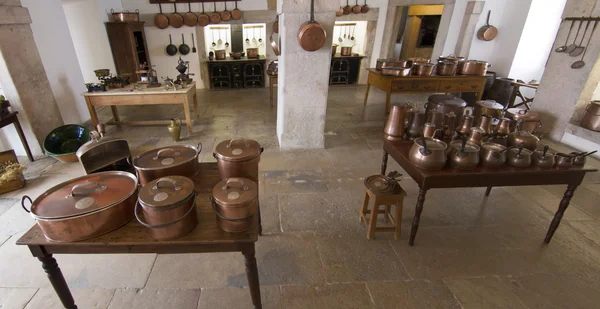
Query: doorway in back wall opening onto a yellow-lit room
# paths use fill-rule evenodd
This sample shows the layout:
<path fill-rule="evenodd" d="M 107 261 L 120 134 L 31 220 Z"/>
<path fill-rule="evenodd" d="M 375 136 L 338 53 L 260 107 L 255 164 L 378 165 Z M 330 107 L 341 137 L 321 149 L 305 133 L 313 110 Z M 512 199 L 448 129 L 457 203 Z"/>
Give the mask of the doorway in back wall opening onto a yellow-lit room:
<path fill-rule="evenodd" d="M 433 54 L 444 5 L 411 5 L 400 8 L 395 56 L 430 59 Z"/>

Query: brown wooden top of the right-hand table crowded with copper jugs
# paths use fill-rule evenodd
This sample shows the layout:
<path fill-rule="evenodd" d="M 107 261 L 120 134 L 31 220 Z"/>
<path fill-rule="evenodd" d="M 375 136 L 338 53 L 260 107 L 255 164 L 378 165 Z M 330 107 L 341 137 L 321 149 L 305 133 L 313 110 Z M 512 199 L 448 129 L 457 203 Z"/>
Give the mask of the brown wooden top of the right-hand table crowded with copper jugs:
<path fill-rule="evenodd" d="M 421 189 L 551 184 L 579 185 L 585 173 L 598 171 L 590 166 L 568 169 L 541 169 L 535 165 L 526 168 L 504 165 L 502 168 L 497 169 L 478 166 L 471 171 L 444 167 L 442 170 L 429 171 L 414 166 L 408 159 L 412 144 L 412 141 L 390 142 L 384 140 L 383 150 L 387 151 L 400 164 L 419 184 Z"/>

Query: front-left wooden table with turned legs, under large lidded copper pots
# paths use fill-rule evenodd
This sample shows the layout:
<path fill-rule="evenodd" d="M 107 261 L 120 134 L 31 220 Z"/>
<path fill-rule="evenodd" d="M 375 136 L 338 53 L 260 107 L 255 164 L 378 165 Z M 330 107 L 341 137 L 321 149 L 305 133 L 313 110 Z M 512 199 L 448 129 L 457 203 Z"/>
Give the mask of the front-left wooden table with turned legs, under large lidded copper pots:
<path fill-rule="evenodd" d="M 262 308 L 258 269 L 254 256 L 254 243 L 258 240 L 258 219 L 254 218 L 252 228 L 243 233 L 227 233 L 219 229 L 216 215 L 211 209 L 209 196 L 214 185 L 219 182 L 216 163 L 201 163 L 200 172 L 194 179 L 198 197 L 198 225 L 189 234 L 170 241 L 157 241 L 151 238 L 145 227 L 135 219 L 125 226 L 108 234 L 92 239 L 72 242 L 51 242 L 44 237 L 40 228 L 34 225 L 18 241 L 17 245 L 26 245 L 34 257 L 42 262 L 42 268 L 50 283 L 68 309 L 77 308 L 53 254 L 105 254 L 105 253 L 205 253 L 205 252 L 241 252 L 246 263 L 246 275 L 254 308 Z M 193 265 L 191 265 L 193 267 Z"/>

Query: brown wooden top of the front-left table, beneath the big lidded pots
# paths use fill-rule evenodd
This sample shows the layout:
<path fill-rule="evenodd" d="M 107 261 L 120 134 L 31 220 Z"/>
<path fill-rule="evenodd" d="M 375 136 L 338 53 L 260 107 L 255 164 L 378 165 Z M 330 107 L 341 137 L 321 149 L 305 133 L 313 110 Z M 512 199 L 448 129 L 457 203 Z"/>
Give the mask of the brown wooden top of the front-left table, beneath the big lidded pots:
<path fill-rule="evenodd" d="M 258 216 L 254 216 L 252 228 L 243 233 L 228 233 L 217 226 L 216 214 L 212 210 L 209 197 L 213 187 L 219 181 L 220 176 L 216 163 L 200 164 L 200 172 L 194 178 L 198 192 L 196 198 L 198 225 L 189 234 L 175 240 L 158 241 L 153 239 L 148 234 L 146 227 L 134 218 L 125 226 L 110 233 L 71 243 L 59 243 L 46 239 L 36 224 L 17 240 L 17 245 L 44 246 L 51 249 L 49 253 L 139 253 L 156 252 L 155 248 L 159 246 L 172 247 L 172 251 L 178 251 L 177 248 L 190 245 L 219 246 L 256 242 L 258 239 Z"/>

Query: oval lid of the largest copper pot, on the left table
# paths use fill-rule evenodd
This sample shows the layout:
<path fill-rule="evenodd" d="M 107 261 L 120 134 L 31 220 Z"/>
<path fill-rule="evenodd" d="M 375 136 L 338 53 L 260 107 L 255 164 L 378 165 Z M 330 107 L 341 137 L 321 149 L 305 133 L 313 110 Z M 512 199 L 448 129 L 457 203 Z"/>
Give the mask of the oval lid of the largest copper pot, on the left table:
<path fill-rule="evenodd" d="M 137 178 L 127 172 L 94 173 L 60 183 L 31 205 L 36 219 L 66 219 L 116 205 L 137 190 Z"/>

